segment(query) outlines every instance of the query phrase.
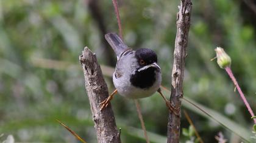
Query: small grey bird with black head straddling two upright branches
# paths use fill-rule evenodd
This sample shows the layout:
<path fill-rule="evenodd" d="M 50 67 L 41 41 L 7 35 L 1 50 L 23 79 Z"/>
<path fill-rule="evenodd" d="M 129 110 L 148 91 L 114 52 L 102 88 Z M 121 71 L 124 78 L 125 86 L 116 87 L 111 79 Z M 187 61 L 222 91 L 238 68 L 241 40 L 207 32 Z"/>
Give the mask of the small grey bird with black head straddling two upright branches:
<path fill-rule="evenodd" d="M 113 84 L 116 90 L 100 104 L 101 110 L 109 104 L 117 92 L 130 99 L 146 98 L 156 91 L 160 93 L 170 111 L 175 111 L 169 101 L 162 95 L 161 68 L 157 64 L 157 54 L 149 48 L 136 51 L 129 48 L 115 33 L 108 33 L 105 39 L 117 56 L 116 68 L 113 73 Z"/>

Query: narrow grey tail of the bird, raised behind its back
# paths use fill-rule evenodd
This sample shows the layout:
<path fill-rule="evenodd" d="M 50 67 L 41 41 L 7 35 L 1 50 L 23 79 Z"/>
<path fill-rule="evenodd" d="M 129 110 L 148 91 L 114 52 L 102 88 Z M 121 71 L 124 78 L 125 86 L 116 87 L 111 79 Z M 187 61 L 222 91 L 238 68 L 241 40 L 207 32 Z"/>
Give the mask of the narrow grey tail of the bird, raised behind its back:
<path fill-rule="evenodd" d="M 116 53 L 116 56 L 119 59 L 119 55 L 127 50 L 127 45 L 124 44 L 122 39 L 116 35 L 116 33 L 107 33 L 105 35 L 105 39 L 110 44 L 110 46 L 113 48 L 114 52 Z"/>

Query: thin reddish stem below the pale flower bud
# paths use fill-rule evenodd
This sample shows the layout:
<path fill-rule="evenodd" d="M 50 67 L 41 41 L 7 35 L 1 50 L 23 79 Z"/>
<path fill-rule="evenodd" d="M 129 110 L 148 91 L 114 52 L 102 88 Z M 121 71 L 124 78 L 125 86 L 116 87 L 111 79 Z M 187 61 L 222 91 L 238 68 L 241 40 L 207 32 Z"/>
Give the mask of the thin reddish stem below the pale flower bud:
<path fill-rule="evenodd" d="M 225 70 L 227 71 L 227 74 L 229 75 L 229 77 L 232 79 L 233 83 L 235 84 L 236 89 L 238 90 L 238 93 L 240 94 L 240 97 L 242 98 L 242 100 L 244 101 L 244 104 L 247 107 L 247 110 L 249 111 L 249 113 L 251 114 L 251 116 L 255 116 L 254 112 L 252 111 L 252 108 L 250 107 L 249 103 L 247 102 L 243 91 L 241 90 L 240 86 L 238 85 L 238 82 L 235 79 L 235 76 L 233 76 L 232 70 L 230 67 L 226 67 Z M 254 118 L 254 124 L 256 124 L 256 119 Z"/>

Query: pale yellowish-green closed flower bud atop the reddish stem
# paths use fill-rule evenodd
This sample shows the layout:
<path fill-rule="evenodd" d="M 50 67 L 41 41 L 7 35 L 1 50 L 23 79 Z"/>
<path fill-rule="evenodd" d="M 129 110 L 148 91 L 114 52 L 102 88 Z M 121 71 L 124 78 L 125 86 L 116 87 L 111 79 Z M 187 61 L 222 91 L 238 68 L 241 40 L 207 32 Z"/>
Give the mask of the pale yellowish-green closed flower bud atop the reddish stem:
<path fill-rule="evenodd" d="M 226 68 L 230 67 L 231 65 L 231 59 L 229 55 L 224 51 L 223 48 L 217 47 L 215 48 L 216 56 L 217 56 L 217 63 L 219 67 Z"/>

